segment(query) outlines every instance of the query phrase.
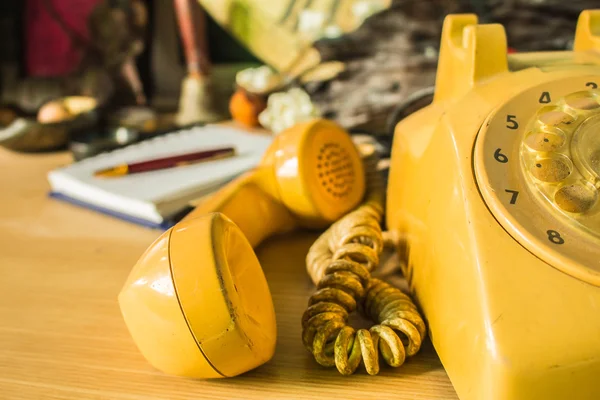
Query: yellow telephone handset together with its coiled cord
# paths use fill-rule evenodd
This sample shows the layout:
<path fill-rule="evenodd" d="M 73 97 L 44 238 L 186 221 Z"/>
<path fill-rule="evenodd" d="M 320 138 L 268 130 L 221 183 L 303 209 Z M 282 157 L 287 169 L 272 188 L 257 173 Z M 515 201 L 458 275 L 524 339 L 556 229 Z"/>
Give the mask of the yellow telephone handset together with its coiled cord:
<path fill-rule="evenodd" d="M 315 360 L 345 375 L 362 363 L 374 375 L 380 359 L 399 367 L 415 355 L 426 335 L 416 306 L 371 277 L 384 245 L 377 160 L 374 146 L 355 145 L 331 121 L 295 125 L 256 169 L 165 232 L 119 294 L 146 359 L 196 378 L 236 376 L 271 359 L 275 314 L 253 248 L 296 226 L 328 227 L 306 259 L 317 289 L 302 316 L 302 340 Z M 347 325 L 356 310 L 376 324 Z"/>

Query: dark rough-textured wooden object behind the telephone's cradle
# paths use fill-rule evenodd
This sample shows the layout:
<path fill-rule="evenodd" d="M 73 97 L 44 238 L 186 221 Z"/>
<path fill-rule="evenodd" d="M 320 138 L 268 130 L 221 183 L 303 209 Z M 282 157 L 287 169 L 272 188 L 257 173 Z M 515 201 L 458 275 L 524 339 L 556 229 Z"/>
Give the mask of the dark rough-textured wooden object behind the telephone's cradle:
<path fill-rule="evenodd" d="M 324 61 L 343 61 L 347 69 L 305 89 L 325 116 L 344 127 L 387 134 L 395 108 L 435 84 L 447 14 L 473 12 L 481 23 L 501 23 L 517 51 L 564 50 L 579 13 L 595 7 L 597 0 L 396 0 L 355 32 L 317 42 Z"/>

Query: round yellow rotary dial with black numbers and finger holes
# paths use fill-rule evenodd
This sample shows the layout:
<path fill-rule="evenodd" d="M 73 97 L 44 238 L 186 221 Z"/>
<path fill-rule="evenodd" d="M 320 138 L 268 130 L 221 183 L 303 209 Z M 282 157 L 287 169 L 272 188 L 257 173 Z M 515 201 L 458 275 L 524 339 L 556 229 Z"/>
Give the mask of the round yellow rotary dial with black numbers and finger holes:
<path fill-rule="evenodd" d="M 474 171 L 496 220 L 530 252 L 600 286 L 599 76 L 529 89 L 480 129 Z"/>

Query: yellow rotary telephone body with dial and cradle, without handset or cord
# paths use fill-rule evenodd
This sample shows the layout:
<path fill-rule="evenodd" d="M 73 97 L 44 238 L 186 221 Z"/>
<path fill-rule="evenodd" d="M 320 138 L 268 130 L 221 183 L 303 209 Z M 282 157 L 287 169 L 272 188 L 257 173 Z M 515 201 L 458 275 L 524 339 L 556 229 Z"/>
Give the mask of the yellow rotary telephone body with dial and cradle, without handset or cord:
<path fill-rule="evenodd" d="M 444 21 L 432 104 L 395 129 L 386 223 L 463 400 L 600 398 L 600 10 L 573 51 Z"/>

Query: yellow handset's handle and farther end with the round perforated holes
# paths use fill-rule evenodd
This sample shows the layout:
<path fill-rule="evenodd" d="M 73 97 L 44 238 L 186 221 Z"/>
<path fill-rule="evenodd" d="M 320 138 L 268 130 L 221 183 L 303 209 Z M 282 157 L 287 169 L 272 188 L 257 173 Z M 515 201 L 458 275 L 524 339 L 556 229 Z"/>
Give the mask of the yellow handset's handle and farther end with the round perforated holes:
<path fill-rule="evenodd" d="M 364 168 L 350 135 L 332 121 L 314 119 L 277 135 L 256 169 L 185 219 L 221 212 L 256 246 L 298 226 L 331 224 L 356 207 L 364 191 Z"/>

